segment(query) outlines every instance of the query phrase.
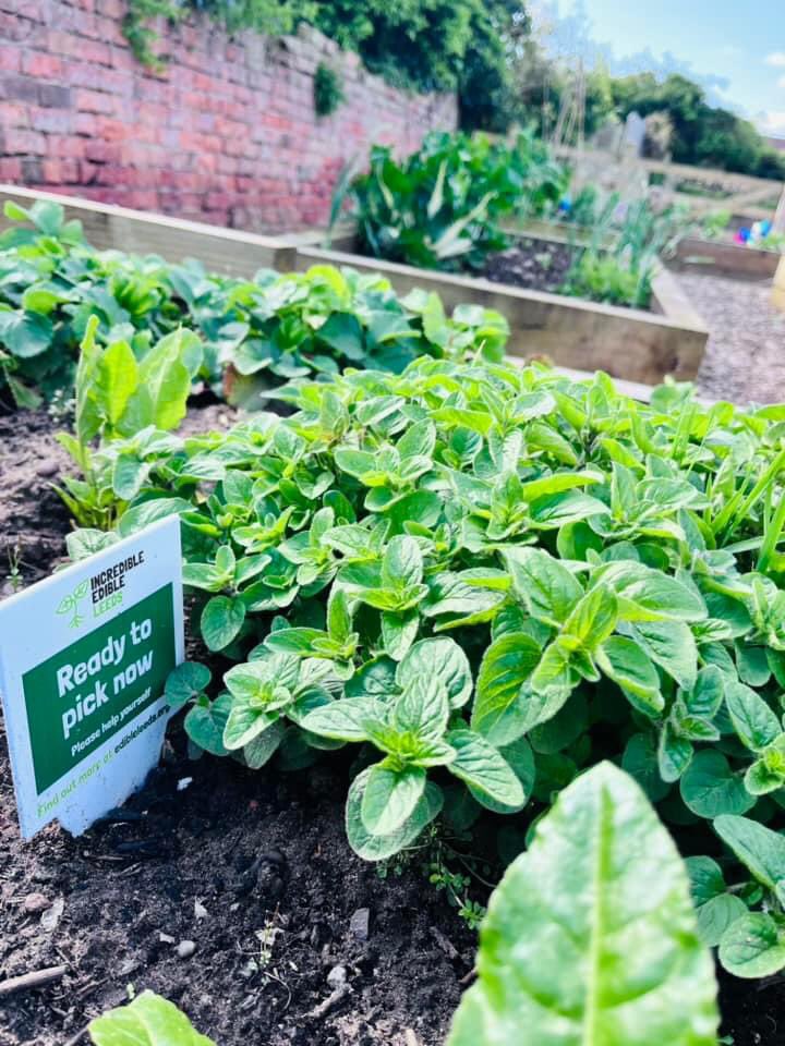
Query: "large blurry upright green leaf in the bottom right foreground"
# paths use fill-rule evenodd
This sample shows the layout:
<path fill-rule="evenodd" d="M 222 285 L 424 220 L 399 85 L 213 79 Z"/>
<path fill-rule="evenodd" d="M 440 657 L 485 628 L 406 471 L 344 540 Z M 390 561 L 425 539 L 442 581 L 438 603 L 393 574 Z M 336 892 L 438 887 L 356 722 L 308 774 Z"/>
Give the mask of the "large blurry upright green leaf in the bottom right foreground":
<path fill-rule="evenodd" d="M 640 788 L 602 763 L 507 869 L 447 1046 L 715 1046 L 687 876 Z"/>

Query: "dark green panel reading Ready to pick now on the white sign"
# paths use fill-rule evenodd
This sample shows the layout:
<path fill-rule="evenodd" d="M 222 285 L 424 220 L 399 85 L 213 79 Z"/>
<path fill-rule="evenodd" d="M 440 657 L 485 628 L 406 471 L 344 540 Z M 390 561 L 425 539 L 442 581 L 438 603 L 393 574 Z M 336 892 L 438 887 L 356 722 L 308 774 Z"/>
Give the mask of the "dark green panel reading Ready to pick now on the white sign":
<path fill-rule="evenodd" d="M 176 660 L 168 584 L 25 672 L 38 793 L 157 701 Z"/>

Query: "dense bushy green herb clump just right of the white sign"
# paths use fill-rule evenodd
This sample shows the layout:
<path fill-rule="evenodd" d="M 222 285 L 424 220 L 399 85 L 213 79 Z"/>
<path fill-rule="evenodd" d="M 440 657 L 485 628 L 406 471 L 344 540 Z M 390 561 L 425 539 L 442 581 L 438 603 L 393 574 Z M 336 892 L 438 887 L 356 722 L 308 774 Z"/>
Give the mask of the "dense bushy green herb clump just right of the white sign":
<path fill-rule="evenodd" d="M 181 515 L 194 628 L 235 662 L 217 692 L 180 670 L 196 744 L 253 766 L 359 746 L 370 860 L 456 794 L 526 826 L 602 758 L 677 823 L 771 816 L 785 409 L 427 356 L 278 398 L 297 413 L 145 458 L 116 532 Z"/>

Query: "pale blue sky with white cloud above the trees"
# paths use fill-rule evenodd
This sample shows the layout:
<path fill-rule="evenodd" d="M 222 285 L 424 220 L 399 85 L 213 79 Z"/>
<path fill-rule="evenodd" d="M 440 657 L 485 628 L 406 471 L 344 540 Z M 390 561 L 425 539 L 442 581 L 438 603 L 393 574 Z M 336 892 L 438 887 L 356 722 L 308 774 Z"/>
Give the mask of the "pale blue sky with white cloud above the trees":
<path fill-rule="evenodd" d="M 660 64 L 691 73 L 712 100 L 734 109 L 768 134 L 785 137 L 785 0 L 534 0 L 540 19 L 580 14 L 594 44 L 613 57 L 612 72 Z M 548 49 L 596 47 L 573 23 L 556 29 Z M 576 42 L 579 41 L 579 42 Z M 607 45 L 607 49 L 604 47 Z M 644 53 L 641 53 L 644 52 Z"/>

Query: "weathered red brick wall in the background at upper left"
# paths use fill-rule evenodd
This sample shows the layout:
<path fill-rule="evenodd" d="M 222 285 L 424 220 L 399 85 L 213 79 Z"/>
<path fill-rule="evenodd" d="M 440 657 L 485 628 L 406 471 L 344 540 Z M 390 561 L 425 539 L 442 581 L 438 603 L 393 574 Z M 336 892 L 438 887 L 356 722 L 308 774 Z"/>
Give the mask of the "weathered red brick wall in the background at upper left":
<path fill-rule="evenodd" d="M 456 125 L 452 96 L 388 86 L 315 31 L 229 38 L 197 20 L 161 26 L 169 62 L 142 66 L 123 0 L 0 0 L 0 181 L 237 229 L 324 223 L 346 160 L 404 154 Z M 318 119 L 313 73 L 342 73 Z"/>

